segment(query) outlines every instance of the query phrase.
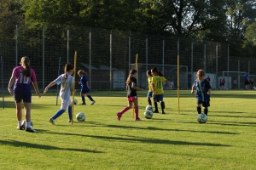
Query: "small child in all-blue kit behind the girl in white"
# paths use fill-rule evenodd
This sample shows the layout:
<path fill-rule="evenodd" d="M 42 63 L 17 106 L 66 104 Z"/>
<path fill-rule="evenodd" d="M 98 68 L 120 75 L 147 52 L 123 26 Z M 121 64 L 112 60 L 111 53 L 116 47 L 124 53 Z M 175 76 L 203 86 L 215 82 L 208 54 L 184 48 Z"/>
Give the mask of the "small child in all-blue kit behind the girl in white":
<path fill-rule="evenodd" d="M 81 85 L 80 96 L 81 96 L 82 101 L 83 101 L 82 105 L 86 105 L 86 104 L 85 104 L 84 95 L 86 95 L 87 98 L 90 99 L 90 101 L 91 101 L 90 105 L 94 105 L 96 101 L 95 101 L 94 99 L 92 99 L 91 96 L 90 96 L 90 94 L 89 94 L 89 92 L 90 92 L 90 87 L 89 87 L 89 82 L 88 82 L 88 78 L 87 78 L 86 72 L 80 70 L 80 71 L 78 72 L 78 74 L 79 74 L 79 77 L 81 77 L 79 84 Z"/>

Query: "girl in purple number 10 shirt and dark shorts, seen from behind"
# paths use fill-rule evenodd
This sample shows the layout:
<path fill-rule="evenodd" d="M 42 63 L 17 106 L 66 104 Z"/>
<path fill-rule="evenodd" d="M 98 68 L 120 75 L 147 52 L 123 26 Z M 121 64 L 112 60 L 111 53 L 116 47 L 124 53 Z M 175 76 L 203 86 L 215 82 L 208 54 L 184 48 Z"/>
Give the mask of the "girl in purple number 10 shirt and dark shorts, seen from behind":
<path fill-rule="evenodd" d="M 24 130 L 26 132 L 36 133 L 31 126 L 31 103 L 32 103 L 32 92 L 30 83 L 32 82 L 33 87 L 40 98 L 41 95 L 38 90 L 38 83 L 35 71 L 30 68 L 30 59 L 26 56 L 21 58 L 20 66 L 16 66 L 12 77 L 9 80 L 9 94 L 15 96 L 16 104 L 16 115 L 18 118 L 18 130 Z M 15 83 L 14 89 L 12 89 L 13 84 Z M 22 100 L 24 104 L 24 111 L 26 117 L 26 125 L 22 124 Z"/>

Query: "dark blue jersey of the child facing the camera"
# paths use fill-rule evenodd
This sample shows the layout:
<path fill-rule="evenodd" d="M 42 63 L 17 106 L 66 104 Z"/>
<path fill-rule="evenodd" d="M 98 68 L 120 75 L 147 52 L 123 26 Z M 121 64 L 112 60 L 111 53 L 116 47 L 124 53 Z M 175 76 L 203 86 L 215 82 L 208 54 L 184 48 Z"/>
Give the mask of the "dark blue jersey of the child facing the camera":
<path fill-rule="evenodd" d="M 207 94 L 208 90 L 211 89 L 210 83 L 207 81 L 207 79 L 204 79 L 203 81 L 199 82 L 195 80 L 193 86 L 196 90 L 196 99 L 201 102 L 209 102 L 210 101 L 210 95 Z"/>

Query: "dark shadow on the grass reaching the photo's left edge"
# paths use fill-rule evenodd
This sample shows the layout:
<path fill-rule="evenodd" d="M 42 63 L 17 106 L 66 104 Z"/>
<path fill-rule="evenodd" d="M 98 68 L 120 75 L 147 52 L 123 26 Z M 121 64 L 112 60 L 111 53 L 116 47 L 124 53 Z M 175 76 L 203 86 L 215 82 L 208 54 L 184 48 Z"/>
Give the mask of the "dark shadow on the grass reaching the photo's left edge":
<path fill-rule="evenodd" d="M 81 151 L 81 152 L 90 152 L 90 153 L 102 153 L 101 151 L 96 150 L 84 150 L 84 149 L 76 149 L 76 148 L 59 148 L 56 146 L 44 145 L 44 144 L 31 144 L 26 142 L 20 142 L 15 140 L 0 140 L 0 144 L 4 145 L 12 145 L 15 147 L 27 147 L 27 148 L 35 148 L 41 150 L 69 150 L 69 151 Z"/>

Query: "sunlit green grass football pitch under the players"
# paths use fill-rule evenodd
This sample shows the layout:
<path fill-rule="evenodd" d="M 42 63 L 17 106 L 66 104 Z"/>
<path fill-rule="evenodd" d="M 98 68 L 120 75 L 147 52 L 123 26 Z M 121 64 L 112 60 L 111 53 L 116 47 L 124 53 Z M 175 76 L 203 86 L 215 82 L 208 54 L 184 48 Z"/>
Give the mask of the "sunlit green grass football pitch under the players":
<path fill-rule="evenodd" d="M 6 94 L 1 108 L 1 169 L 255 169 L 256 116 L 254 91 L 212 91 L 208 122 L 196 121 L 195 94 L 166 90 L 166 115 L 143 117 L 147 92 L 139 92 L 139 115 L 127 111 L 126 93 L 91 92 L 95 105 L 75 105 L 74 116 L 85 122 L 67 122 L 55 94 L 32 97 L 32 121 L 38 133 L 16 130 L 15 103 Z M 79 93 L 75 99 L 81 103 Z M 2 106 L 2 105 L 1 105 Z M 160 105 L 159 105 L 160 108 Z"/>

